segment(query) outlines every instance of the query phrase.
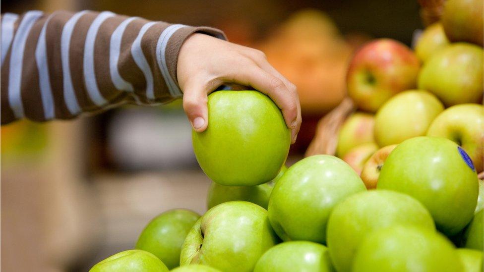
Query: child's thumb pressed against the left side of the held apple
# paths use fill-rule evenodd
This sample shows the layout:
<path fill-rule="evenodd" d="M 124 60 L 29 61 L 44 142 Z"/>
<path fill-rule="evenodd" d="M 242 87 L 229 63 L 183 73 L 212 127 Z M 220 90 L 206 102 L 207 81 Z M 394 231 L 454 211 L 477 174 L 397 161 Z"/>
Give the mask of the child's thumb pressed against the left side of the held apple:
<path fill-rule="evenodd" d="M 185 88 L 183 110 L 196 132 L 204 131 L 208 126 L 207 93 L 202 88 Z"/>

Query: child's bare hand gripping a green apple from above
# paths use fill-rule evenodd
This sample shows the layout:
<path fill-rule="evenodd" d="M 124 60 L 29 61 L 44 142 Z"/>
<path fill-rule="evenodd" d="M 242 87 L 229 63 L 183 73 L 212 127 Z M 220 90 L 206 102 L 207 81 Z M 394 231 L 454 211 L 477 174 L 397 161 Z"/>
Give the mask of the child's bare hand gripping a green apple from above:
<path fill-rule="evenodd" d="M 296 86 L 262 52 L 196 33 L 183 43 L 177 65 L 183 109 L 196 131 L 207 128 L 207 95 L 222 84 L 238 84 L 269 96 L 282 110 L 292 142 L 296 141 L 301 126 Z"/>

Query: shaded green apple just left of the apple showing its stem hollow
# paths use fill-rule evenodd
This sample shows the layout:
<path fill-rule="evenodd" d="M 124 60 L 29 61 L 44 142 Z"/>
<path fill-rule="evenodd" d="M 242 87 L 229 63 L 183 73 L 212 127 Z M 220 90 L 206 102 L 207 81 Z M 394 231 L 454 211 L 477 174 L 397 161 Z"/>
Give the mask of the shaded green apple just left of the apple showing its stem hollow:
<path fill-rule="evenodd" d="M 165 212 L 146 225 L 135 248 L 153 253 L 169 269 L 178 267 L 183 241 L 198 218 L 198 214 L 183 209 Z"/>

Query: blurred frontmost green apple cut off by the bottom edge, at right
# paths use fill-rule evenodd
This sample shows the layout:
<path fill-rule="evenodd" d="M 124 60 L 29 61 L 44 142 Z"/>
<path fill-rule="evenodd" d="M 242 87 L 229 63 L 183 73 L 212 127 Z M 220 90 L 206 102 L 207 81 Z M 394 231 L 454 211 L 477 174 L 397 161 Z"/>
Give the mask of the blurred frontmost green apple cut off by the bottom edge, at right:
<path fill-rule="evenodd" d="M 395 225 L 366 236 L 352 272 L 464 272 L 459 254 L 442 234 Z"/>

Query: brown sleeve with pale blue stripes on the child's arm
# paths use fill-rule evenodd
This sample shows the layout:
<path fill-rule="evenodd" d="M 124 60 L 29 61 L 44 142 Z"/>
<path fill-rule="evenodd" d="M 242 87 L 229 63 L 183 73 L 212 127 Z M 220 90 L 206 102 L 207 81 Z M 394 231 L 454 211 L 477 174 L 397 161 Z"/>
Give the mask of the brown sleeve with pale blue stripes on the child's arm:
<path fill-rule="evenodd" d="M 28 11 L 0 18 L 1 124 L 70 119 L 123 103 L 182 97 L 177 60 L 194 32 L 209 27 L 126 17 L 109 11 Z"/>

